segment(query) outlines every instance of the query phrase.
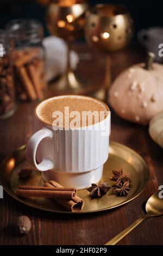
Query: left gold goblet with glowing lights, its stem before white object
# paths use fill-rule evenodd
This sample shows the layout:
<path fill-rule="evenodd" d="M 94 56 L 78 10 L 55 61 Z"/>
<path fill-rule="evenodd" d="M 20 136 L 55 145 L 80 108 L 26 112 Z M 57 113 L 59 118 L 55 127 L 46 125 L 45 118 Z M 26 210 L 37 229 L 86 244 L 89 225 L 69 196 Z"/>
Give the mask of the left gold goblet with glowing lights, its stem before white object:
<path fill-rule="evenodd" d="M 51 3 L 47 11 L 49 32 L 64 39 L 67 43 L 67 68 L 65 74 L 54 84 L 59 92 L 79 93 L 85 83 L 74 75 L 70 65 L 70 42 L 84 34 L 85 11 L 87 3 L 62 5 Z"/>

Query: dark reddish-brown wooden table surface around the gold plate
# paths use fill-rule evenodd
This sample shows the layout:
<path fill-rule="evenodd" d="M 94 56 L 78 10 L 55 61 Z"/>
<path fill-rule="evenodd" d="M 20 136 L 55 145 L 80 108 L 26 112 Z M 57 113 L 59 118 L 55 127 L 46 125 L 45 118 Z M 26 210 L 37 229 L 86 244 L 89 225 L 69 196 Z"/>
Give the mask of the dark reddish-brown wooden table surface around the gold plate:
<path fill-rule="evenodd" d="M 105 58 L 92 54 L 85 44 L 74 44 L 79 52 L 77 73 L 94 84 L 102 84 Z M 135 44 L 112 54 L 112 78 L 131 64 L 142 62 L 144 53 Z M 123 86 L 123 84 L 122 84 Z M 36 103 L 18 103 L 16 113 L 0 121 L 0 160 L 27 143 L 33 133 L 33 112 Z M 17 202 L 4 192 L 0 199 L 0 245 L 103 245 L 144 214 L 146 200 L 163 184 L 163 150 L 148 135 L 148 127 L 131 124 L 112 112 L 111 140 L 127 145 L 148 164 L 151 176 L 148 186 L 132 202 L 92 215 L 61 215 L 43 212 Z M 14 224 L 20 215 L 29 216 L 32 230 L 26 236 L 15 233 Z M 119 242 L 119 245 L 163 245 L 163 217 L 150 218 Z"/>

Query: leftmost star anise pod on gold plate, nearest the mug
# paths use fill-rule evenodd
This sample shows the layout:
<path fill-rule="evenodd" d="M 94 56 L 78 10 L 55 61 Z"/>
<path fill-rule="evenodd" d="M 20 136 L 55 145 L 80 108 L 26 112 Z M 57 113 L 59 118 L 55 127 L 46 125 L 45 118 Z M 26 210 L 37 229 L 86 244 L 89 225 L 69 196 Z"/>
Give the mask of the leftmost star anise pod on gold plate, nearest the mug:
<path fill-rule="evenodd" d="M 92 183 L 91 185 L 92 185 L 91 187 L 87 188 L 87 191 L 90 192 L 91 197 L 102 197 L 110 189 L 110 186 L 109 186 L 108 182 L 103 183 L 102 181 L 100 181 L 98 183 L 98 185 L 94 184 L 94 183 Z"/>

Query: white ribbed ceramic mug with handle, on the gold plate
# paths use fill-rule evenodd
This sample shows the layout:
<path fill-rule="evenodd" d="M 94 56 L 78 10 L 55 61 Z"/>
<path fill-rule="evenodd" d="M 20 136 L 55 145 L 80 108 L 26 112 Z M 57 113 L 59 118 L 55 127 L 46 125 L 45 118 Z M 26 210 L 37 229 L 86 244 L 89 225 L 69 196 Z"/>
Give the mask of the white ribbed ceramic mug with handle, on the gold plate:
<path fill-rule="evenodd" d="M 75 99 L 77 96 L 72 97 Z M 79 97 L 87 99 L 86 96 Z M 48 100 L 52 98 L 45 101 Z M 38 115 L 45 101 L 35 108 L 38 131 L 27 144 L 28 163 L 42 171 L 46 181 L 53 179 L 63 186 L 77 188 L 85 188 L 91 183 L 96 183 L 101 179 L 103 164 L 109 154 L 110 111 L 108 106 L 106 106 L 108 113 L 105 119 L 92 125 L 92 129 L 86 126 L 75 130 L 53 130 L 52 125 L 44 123 Z"/>

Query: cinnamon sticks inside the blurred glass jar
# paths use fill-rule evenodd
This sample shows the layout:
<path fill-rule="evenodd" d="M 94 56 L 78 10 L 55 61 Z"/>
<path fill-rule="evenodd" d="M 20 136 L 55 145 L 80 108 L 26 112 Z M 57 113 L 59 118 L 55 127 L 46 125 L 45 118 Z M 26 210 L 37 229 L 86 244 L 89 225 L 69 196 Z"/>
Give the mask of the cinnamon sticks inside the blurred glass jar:
<path fill-rule="evenodd" d="M 15 88 L 21 101 L 43 99 L 45 89 L 42 50 L 38 47 L 14 52 Z"/>

